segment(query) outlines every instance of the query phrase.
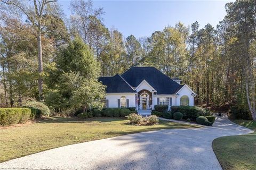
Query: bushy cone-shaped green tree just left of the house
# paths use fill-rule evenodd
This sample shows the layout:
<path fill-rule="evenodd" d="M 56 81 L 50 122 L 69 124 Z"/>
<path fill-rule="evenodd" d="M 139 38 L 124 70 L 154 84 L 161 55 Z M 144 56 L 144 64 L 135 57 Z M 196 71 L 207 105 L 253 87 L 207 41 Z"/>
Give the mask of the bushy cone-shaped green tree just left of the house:
<path fill-rule="evenodd" d="M 62 48 L 55 65 L 47 72 L 49 78 L 46 82 L 61 96 L 58 97 L 61 99 L 60 103 L 57 102 L 59 106 L 83 107 L 84 111 L 101 106 L 105 86 L 98 81 L 100 65 L 81 38 L 75 38 Z"/>

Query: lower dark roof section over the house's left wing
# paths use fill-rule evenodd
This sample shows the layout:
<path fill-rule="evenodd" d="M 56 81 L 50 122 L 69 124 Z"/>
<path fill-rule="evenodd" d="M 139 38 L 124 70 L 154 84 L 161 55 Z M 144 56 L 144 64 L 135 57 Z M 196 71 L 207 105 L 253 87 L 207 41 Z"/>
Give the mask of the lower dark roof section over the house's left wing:
<path fill-rule="evenodd" d="M 135 92 L 130 84 L 128 84 L 119 74 L 116 74 L 114 77 L 100 77 L 99 81 L 107 86 L 107 93 Z"/>

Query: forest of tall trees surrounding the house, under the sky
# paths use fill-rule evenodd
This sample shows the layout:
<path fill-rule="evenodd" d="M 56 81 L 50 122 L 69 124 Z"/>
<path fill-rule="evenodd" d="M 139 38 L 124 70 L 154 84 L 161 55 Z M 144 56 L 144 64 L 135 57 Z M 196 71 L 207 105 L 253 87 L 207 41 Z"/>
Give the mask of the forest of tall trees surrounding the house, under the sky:
<path fill-rule="evenodd" d="M 131 66 L 155 66 L 187 83 L 198 95 L 196 105 L 236 106 L 256 120 L 256 1 L 227 3 L 227 14 L 215 28 L 179 22 L 140 38 L 106 28 L 103 8 L 94 8 L 90 0 L 71 2 L 70 10 L 65 18 L 58 1 L 0 0 L 1 103 L 14 107 L 34 98 L 68 108 L 75 97 L 68 91 L 78 88 L 86 96 L 86 88 L 103 88 L 95 77 L 121 74 Z M 75 44 L 93 56 L 82 59 L 95 61 L 93 80 L 90 73 L 82 74 L 86 65 L 74 69 L 81 64 L 69 56 Z M 66 71 L 61 67 L 65 64 Z M 87 85 L 70 87 L 66 81 Z"/>

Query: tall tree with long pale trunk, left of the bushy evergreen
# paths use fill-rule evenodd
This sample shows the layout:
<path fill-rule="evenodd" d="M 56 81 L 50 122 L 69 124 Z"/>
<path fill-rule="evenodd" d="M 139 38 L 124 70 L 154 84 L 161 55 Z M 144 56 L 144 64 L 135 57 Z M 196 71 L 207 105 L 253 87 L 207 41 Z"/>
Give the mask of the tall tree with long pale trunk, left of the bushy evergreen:
<path fill-rule="evenodd" d="M 54 5 L 56 0 L 39 0 L 39 1 L 22 1 L 22 0 L 2 0 L 2 6 L 4 10 L 2 11 L 2 19 L 5 22 L 8 22 L 6 18 L 10 17 L 11 15 L 16 16 L 17 11 L 22 13 L 27 17 L 27 21 L 33 27 L 33 33 L 37 38 L 37 50 L 38 50 L 38 92 L 39 92 L 39 99 L 42 99 L 43 95 L 43 50 L 42 50 L 42 34 L 44 25 L 47 21 L 48 15 L 53 15 L 58 12 L 57 8 L 54 8 L 51 5 Z M 5 4 L 5 6 L 3 5 Z M 12 23 L 10 23 L 12 24 Z M 13 25 L 15 27 L 20 27 L 19 24 Z"/>

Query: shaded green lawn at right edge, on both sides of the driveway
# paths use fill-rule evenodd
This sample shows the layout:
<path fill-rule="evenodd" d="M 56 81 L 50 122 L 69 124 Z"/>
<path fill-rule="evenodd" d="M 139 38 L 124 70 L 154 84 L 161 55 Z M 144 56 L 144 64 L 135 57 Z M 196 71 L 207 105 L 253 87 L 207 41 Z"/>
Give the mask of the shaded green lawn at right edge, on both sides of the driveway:
<path fill-rule="evenodd" d="M 213 150 L 223 169 L 256 169 L 256 122 L 233 120 L 254 133 L 213 140 Z"/>

